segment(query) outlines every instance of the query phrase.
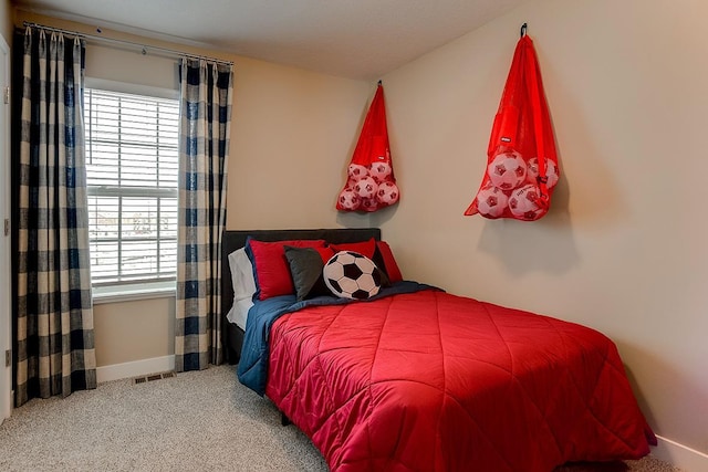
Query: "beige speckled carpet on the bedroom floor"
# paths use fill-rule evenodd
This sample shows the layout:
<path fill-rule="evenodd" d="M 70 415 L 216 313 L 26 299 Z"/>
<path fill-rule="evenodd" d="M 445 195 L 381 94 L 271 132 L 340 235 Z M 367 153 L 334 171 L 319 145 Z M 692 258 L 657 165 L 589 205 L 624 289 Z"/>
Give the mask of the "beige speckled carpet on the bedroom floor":
<path fill-rule="evenodd" d="M 1 471 L 326 471 L 309 439 L 283 428 L 233 367 L 145 384 L 101 384 L 61 400 L 32 400 L 0 426 Z M 676 471 L 641 461 L 556 472 Z"/>

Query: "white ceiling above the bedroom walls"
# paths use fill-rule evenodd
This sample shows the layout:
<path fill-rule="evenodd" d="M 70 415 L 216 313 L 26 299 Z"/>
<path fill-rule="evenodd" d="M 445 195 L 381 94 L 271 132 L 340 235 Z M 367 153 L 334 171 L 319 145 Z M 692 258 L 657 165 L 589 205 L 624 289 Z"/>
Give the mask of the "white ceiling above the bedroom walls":
<path fill-rule="evenodd" d="M 13 0 L 175 43 L 376 80 L 525 0 Z"/>

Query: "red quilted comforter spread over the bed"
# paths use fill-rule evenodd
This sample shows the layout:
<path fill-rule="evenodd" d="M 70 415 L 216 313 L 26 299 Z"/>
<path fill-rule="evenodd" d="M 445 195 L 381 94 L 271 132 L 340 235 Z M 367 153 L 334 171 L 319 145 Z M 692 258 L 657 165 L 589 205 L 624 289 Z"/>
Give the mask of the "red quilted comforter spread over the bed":
<path fill-rule="evenodd" d="M 287 314 L 267 396 L 333 471 L 543 471 L 638 459 L 654 434 L 615 345 L 423 291 Z"/>

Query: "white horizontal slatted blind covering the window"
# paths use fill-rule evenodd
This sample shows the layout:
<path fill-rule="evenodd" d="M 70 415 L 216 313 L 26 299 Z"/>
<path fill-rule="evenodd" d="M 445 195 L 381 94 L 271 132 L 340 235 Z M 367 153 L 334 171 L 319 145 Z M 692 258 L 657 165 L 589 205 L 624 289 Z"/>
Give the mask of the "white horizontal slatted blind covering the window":
<path fill-rule="evenodd" d="M 175 279 L 179 101 L 86 88 L 94 286 Z"/>

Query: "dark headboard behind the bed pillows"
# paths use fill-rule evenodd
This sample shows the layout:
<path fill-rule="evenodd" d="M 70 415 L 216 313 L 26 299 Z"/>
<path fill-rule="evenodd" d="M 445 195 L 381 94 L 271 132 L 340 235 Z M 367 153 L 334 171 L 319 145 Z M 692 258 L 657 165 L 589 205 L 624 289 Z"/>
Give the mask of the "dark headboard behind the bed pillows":
<path fill-rule="evenodd" d="M 233 286 L 229 270 L 229 254 L 246 245 L 248 237 L 260 241 L 281 241 L 292 239 L 323 239 L 340 244 L 343 242 L 381 240 L 378 228 L 333 228 L 313 230 L 233 230 L 225 231 L 221 240 L 221 314 L 226 316 L 233 303 Z"/>

